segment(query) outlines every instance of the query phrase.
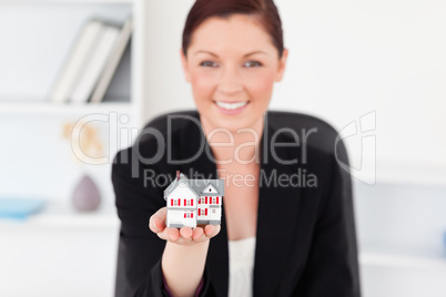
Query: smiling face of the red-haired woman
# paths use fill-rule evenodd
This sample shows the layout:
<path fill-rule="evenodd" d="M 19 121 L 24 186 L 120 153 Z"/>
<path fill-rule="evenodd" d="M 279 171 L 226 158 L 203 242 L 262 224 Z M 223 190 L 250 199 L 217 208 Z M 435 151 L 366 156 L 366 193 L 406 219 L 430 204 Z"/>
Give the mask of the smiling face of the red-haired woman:
<path fill-rule="evenodd" d="M 271 37 L 252 16 L 212 17 L 192 34 L 185 58 L 185 79 L 203 125 L 236 131 L 262 123 L 273 84 L 281 81 L 282 58 Z"/>

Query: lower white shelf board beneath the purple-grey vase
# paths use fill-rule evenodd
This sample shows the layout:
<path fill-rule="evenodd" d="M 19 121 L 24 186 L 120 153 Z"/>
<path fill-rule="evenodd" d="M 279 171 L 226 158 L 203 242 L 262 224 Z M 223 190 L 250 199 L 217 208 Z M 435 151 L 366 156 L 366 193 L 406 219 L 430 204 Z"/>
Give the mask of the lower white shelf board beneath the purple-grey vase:
<path fill-rule="evenodd" d="M 102 205 L 95 212 L 78 212 L 68 203 L 47 203 L 42 212 L 28 219 L 0 219 L 0 229 L 11 228 L 119 228 L 119 218 L 113 206 Z"/>

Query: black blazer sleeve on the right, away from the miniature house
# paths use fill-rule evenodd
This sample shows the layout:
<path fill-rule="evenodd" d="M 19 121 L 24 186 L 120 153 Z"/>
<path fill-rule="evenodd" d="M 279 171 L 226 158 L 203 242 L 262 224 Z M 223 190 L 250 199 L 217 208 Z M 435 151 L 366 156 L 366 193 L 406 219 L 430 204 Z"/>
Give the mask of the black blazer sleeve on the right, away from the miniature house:
<path fill-rule="evenodd" d="M 345 147 L 332 155 L 332 174 L 318 216 L 308 259 L 296 296 L 359 297 L 357 244 L 353 212 L 352 177 L 338 164 L 348 164 Z M 293 295 L 294 296 L 294 295 Z"/>

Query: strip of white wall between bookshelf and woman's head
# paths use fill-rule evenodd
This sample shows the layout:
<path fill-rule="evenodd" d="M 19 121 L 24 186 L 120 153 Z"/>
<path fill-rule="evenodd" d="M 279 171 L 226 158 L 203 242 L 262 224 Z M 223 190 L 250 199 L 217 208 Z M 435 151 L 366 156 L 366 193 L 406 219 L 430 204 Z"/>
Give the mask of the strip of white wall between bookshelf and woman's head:
<path fill-rule="evenodd" d="M 155 0 L 148 4 L 148 120 L 166 111 L 194 107 L 180 60 L 182 30 L 193 2 Z"/>

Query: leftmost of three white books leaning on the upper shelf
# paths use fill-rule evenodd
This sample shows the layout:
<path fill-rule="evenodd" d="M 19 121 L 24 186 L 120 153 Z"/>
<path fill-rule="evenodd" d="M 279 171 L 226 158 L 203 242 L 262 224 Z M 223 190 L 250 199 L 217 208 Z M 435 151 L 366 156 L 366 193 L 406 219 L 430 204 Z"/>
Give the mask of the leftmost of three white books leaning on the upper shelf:
<path fill-rule="evenodd" d="M 81 32 L 74 41 L 74 47 L 70 51 L 68 60 L 58 75 L 57 82 L 51 91 L 50 98 L 52 102 L 60 103 L 69 100 L 69 96 L 81 75 L 82 69 L 87 63 L 91 49 L 95 45 L 102 29 L 103 24 L 99 20 L 90 20 L 83 24 Z"/>

